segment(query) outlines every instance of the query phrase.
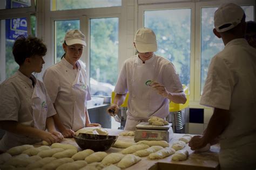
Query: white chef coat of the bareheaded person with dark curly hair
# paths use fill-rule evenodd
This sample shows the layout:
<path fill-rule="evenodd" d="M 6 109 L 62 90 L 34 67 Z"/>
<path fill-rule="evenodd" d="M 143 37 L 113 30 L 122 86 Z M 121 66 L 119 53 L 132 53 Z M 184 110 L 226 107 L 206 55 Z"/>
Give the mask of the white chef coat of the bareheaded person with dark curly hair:
<path fill-rule="evenodd" d="M 17 71 L 0 85 L 0 121 L 16 121 L 45 130 L 46 118 L 55 115 L 56 111 L 43 82 L 36 80 L 33 75 L 31 78 L 35 82 L 35 87 L 32 86 L 29 77 Z M 0 150 L 41 140 L 6 131 L 0 141 Z"/>

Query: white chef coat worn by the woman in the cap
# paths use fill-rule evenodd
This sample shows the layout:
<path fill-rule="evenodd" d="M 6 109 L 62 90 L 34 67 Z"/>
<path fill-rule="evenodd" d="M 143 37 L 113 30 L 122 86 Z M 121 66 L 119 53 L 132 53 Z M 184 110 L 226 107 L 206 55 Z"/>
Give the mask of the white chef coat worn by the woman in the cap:
<path fill-rule="evenodd" d="M 78 60 L 78 69 L 63 58 L 46 69 L 43 82 L 66 129 L 85 127 L 86 101 L 91 100 L 85 64 Z"/>

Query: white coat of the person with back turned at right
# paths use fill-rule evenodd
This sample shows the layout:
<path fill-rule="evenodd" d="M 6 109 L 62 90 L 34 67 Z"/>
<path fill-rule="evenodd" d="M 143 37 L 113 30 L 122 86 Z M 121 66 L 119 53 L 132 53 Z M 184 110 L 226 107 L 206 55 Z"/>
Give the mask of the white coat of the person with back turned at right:
<path fill-rule="evenodd" d="M 220 138 L 223 168 L 256 164 L 256 49 L 235 39 L 212 58 L 200 104 L 230 111 Z M 238 149 L 239 148 L 239 149 Z M 252 151 L 252 152 L 251 152 Z"/>

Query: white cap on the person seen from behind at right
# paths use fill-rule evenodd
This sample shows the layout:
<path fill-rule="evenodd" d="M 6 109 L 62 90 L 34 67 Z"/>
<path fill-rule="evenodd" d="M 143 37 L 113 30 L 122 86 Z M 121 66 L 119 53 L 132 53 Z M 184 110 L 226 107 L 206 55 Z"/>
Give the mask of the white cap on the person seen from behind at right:
<path fill-rule="evenodd" d="M 244 17 L 244 10 L 239 5 L 222 4 L 214 13 L 214 27 L 218 32 L 231 30 L 241 22 L 242 17 Z"/>

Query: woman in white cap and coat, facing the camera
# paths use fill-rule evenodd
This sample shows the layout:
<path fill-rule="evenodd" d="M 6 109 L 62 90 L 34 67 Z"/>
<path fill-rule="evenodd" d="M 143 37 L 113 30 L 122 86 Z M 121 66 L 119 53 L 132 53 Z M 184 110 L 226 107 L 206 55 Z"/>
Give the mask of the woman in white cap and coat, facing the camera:
<path fill-rule="evenodd" d="M 51 97 L 57 115 L 53 117 L 57 129 L 64 137 L 72 137 L 75 131 L 85 126 L 100 126 L 91 123 L 86 101 L 91 100 L 85 64 L 80 61 L 85 36 L 79 30 L 66 32 L 62 60 L 45 70 L 43 82 Z"/>

